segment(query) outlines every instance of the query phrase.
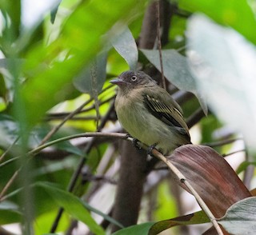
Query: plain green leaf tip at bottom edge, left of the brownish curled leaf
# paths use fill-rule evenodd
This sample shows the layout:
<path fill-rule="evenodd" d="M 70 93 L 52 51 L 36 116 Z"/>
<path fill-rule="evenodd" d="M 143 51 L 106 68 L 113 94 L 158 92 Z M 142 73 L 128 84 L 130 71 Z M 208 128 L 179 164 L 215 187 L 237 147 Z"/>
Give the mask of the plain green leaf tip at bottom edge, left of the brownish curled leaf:
<path fill-rule="evenodd" d="M 153 224 L 154 222 L 148 222 L 141 225 L 133 225 L 127 227 L 126 229 L 120 229 L 112 235 L 147 235 L 149 233 L 151 225 Z"/>

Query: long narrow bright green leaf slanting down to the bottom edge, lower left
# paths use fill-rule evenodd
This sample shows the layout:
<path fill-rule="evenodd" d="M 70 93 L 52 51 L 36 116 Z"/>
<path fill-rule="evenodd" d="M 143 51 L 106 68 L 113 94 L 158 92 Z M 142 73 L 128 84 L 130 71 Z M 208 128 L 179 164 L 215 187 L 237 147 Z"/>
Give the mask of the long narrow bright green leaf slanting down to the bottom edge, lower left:
<path fill-rule="evenodd" d="M 78 221 L 85 223 L 91 232 L 95 234 L 105 234 L 102 227 L 94 221 L 90 213 L 86 210 L 81 199 L 47 182 L 38 182 L 35 183 L 34 186 L 45 189 L 59 206 L 63 207 L 67 213 Z"/>

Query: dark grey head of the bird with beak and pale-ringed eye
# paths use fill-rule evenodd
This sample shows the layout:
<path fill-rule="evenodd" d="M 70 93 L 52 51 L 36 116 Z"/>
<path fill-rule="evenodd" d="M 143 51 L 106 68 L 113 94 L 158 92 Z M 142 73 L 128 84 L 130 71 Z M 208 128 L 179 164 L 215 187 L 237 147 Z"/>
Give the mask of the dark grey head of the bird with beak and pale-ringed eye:
<path fill-rule="evenodd" d="M 133 72 L 126 71 L 110 81 L 111 83 L 118 85 L 122 91 L 129 91 L 132 89 L 145 87 L 145 86 L 155 86 L 156 82 L 154 79 L 150 78 L 149 75 L 142 71 Z"/>

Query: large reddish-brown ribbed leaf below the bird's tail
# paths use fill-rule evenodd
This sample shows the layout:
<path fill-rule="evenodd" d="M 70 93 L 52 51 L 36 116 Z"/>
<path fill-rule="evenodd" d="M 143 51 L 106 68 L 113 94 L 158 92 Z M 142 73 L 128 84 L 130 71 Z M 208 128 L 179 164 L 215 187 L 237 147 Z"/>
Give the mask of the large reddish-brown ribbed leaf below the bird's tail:
<path fill-rule="evenodd" d="M 251 196 L 226 160 L 208 146 L 182 145 L 169 160 L 184 174 L 214 217 L 224 216 L 230 205 Z"/>

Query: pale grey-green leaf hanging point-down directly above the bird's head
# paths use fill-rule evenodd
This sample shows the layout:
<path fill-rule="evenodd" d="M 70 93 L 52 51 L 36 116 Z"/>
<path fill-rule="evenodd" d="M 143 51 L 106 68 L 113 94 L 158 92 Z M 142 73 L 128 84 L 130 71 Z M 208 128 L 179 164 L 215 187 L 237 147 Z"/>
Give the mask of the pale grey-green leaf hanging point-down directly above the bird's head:
<path fill-rule="evenodd" d="M 112 40 L 114 49 L 124 58 L 127 64 L 130 66 L 130 70 L 136 70 L 138 62 L 138 49 L 128 27 L 124 28 L 121 33 L 116 35 L 116 38 Z"/>

